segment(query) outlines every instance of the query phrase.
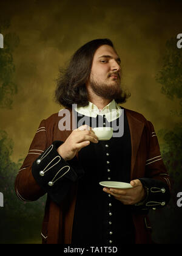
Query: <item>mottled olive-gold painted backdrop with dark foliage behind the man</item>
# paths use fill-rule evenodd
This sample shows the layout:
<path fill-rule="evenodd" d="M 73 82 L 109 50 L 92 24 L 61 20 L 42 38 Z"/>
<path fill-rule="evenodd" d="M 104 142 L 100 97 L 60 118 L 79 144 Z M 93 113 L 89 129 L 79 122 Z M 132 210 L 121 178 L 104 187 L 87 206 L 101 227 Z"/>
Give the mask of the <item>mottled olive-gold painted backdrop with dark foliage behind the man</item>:
<path fill-rule="evenodd" d="M 0 243 L 41 243 L 45 197 L 19 201 L 15 177 L 40 121 L 61 108 L 59 68 L 96 38 L 113 41 L 131 93 L 124 107 L 152 121 L 172 179 L 169 205 L 150 211 L 153 241 L 181 243 L 181 17 L 176 0 L 0 0 Z"/>

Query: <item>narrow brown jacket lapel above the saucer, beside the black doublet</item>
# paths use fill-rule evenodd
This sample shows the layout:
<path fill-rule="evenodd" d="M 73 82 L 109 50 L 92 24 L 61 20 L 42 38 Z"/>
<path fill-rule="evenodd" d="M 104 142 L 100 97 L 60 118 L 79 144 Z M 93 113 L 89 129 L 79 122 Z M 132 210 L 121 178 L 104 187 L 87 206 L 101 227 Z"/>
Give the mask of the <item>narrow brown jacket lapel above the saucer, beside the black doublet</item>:
<path fill-rule="evenodd" d="M 130 172 L 130 178 L 133 179 L 133 171 L 135 167 L 135 161 L 136 161 L 136 154 L 138 151 L 138 147 L 140 145 L 141 140 L 141 134 L 144 129 L 144 123 L 140 121 L 139 119 L 136 119 L 133 113 L 130 112 L 126 108 L 124 108 L 126 111 L 127 121 L 129 123 L 129 129 L 130 129 L 130 136 L 131 136 L 131 144 L 132 144 L 132 156 L 131 156 L 131 172 Z"/>

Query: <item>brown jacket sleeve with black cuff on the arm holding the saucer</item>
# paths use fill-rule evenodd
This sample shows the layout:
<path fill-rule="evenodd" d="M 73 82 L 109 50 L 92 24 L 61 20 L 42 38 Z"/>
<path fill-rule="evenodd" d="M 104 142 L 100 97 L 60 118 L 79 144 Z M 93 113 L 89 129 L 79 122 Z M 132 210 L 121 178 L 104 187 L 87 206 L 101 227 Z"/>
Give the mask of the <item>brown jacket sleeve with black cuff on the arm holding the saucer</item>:
<path fill-rule="evenodd" d="M 161 157 L 157 135 L 150 121 L 147 121 L 146 125 L 149 138 L 147 141 L 146 176 L 140 178 L 140 181 L 146 189 L 147 196 L 143 202 L 136 204 L 145 210 L 164 207 L 170 199 L 169 174 Z"/>

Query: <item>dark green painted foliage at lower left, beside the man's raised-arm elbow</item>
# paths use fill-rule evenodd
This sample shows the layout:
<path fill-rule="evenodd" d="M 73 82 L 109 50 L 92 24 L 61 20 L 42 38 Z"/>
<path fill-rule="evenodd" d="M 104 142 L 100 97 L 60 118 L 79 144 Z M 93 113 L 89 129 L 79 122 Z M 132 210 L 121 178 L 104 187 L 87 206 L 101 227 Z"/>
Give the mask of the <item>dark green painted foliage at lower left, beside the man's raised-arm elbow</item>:
<path fill-rule="evenodd" d="M 4 207 L 0 207 L 0 243 L 40 243 L 44 197 L 36 202 L 18 199 L 14 183 L 22 160 L 12 162 L 12 151 L 13 141 L 0 131 L 0 188 L 4 194 Z"/>

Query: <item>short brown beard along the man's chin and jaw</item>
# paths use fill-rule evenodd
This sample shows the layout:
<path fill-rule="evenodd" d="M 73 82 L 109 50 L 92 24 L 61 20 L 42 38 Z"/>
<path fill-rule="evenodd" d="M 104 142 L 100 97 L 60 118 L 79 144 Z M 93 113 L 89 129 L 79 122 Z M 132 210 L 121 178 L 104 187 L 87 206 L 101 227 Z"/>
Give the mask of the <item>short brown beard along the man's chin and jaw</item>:
<path fill-rule="evenodd" d="M 96 80 L 90 79 L 90 87 L 93 92 L 103 99 L 118 99 L 121 98 L 122 90 L 120 82 L 110 83 L 109 82 L 97 82 Z"/>

